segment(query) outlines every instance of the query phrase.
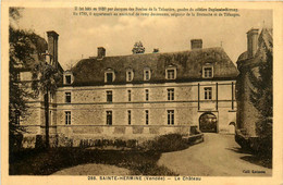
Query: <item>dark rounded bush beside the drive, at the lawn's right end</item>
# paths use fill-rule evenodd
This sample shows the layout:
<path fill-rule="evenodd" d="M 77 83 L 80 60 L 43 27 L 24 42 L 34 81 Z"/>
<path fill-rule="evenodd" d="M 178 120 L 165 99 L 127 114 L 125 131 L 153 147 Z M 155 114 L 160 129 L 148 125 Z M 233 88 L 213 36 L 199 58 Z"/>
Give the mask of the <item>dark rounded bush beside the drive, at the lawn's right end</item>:
<path fill-rule="evenodd" d="M 142 146 L 144 150 L 168 152 L 176 151 L 187 148 L 187 143 L 182 138 L 181 134 L 167 134 L 155 138 L 153 140 L 147 140 Z"/>

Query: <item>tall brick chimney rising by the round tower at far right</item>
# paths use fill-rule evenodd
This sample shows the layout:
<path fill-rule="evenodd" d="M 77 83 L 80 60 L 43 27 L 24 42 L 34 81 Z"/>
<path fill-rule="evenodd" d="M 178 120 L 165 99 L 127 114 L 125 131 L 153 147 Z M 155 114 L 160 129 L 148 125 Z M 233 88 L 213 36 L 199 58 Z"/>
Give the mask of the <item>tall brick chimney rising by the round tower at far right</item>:
<path fill-rule="evenodd" d="M 258 49 L 258 30 L 251 28 L 249 32 L 247 32 L 247 52 L 248 58 L 255 57 L 257 49 Z"/>

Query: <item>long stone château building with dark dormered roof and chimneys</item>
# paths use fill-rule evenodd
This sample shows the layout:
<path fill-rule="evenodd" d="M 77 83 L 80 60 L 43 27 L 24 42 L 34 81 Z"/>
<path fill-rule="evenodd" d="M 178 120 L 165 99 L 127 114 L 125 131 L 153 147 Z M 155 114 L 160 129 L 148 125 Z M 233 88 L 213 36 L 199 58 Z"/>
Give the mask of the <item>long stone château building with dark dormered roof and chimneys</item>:
<path fill-rule="evenodd" d="M 58 62 L 58 34 L 48 32 L 48 51 Z M 223 48 L 82 59 L 64 71 L 63 83 L 50 98 L 50 138 L 145 139 L 169 133 L 232 133 L 236 122 L 235 64 Z M 29 136 L 45 134 L 42 99 L 21 122 Z"/>

